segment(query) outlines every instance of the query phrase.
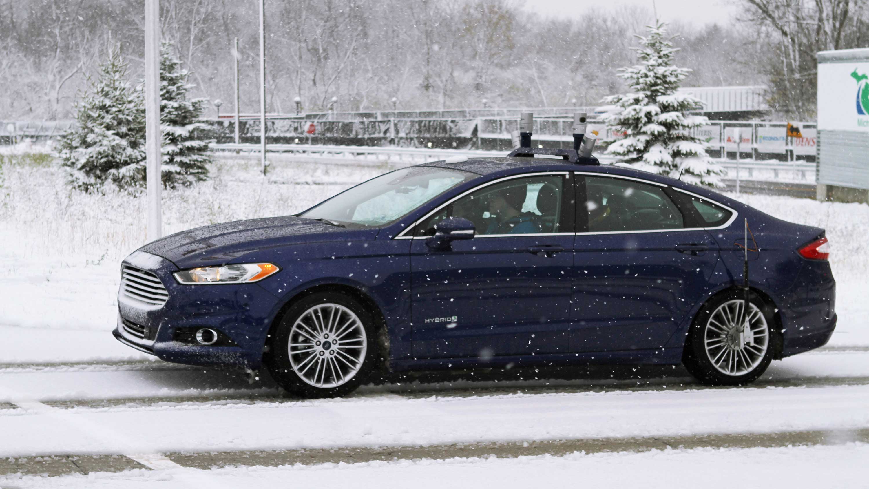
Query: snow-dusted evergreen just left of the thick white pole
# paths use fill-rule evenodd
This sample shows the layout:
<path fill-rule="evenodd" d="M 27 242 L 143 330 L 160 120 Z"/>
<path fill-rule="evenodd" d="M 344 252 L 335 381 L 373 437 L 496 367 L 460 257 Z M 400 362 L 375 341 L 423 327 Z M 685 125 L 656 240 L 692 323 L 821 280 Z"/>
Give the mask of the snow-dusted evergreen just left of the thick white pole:
<path fill-rule="evenodd" d="M 76 188 L 91 191 L 106 181 L 136 184 L 144 171 L 145 111 L 141 91 L 127 81 L 127 63 L 113 49 L 99 78 L 76 101 L 77 126 L 60 140 L 63 166 Z"/>

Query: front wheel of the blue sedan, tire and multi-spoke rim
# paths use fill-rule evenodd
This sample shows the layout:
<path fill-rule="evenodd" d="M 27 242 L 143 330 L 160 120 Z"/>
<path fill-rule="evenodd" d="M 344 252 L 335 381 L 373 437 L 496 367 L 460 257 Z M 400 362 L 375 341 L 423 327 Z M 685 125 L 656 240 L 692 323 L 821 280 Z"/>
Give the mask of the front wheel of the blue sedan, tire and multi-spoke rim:
<path fill-rule="evenodd" d="M 265 363 L 289 393 L 307 399 L 341 397 L 375 372 L 375 329 L 375 314 L 359 301 L 336 292 L 310 294 L 283 314 Z"/>

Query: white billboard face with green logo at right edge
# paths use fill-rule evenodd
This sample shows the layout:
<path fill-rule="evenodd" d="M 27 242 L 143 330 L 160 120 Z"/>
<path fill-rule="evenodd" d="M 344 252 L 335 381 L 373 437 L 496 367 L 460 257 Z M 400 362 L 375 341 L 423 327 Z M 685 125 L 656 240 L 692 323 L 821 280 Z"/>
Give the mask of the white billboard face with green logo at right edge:
<path fill-rule="evenodd" d="M 818 129 L 869 132 L 869 63 L 818 64 Z"/>

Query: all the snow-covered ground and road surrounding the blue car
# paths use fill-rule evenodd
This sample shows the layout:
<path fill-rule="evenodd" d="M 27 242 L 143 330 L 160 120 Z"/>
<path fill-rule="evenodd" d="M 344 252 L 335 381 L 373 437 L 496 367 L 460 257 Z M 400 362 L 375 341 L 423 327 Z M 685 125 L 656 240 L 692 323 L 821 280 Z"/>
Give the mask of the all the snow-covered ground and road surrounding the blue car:
<path fill-rule="evenodd" d="M 119 262 L 146 241 L 144 198 L 71 191 L 54 163 L 25 157 L 31 150 L 0 149 L 0 467 L 25 467 L 0 472 L 0 487 L 869 486 L 866 204 L 730 195 L 825 228 L 838 283 L 829 344 L 773 362 L 752 386 L 700 387 L 667 367 L 395 380 L 297 400 L 268 379 L 175 366 L 118 343 Z M 393 168 L 275 156 L 263 177 L 256 158 L 224 155 L 209 181 L 164 191 L 163 232 L 293 214 Z M 269 464 L 250 455 L 377 450 L 396 455 Z M 213 466 L 179 455 L 196 453 L 239 455 Z M 137 465 L 26 468 L 98 455 Z"/>

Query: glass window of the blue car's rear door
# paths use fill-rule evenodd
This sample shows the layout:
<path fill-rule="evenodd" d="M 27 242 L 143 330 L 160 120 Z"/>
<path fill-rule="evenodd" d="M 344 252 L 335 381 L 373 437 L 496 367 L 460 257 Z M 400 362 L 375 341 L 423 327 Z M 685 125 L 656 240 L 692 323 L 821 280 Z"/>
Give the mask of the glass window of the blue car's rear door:
<path fill-rule="evenodd" d="M 586 198 L 592 233 L 684 228 L 679 208 L 657 185 L 587 176 Z"/>

